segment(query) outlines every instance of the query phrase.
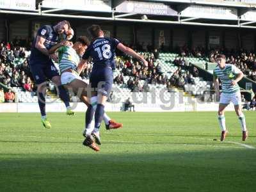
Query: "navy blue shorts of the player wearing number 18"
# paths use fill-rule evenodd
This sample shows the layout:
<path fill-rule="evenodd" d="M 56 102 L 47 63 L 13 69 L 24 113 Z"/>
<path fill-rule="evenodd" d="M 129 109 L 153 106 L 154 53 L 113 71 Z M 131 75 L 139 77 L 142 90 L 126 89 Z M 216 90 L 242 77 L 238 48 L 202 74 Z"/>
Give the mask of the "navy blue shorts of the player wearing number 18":
<path fill-rule="evenodd" d="M 98 92 L 100 91 L 102 95 L 108 97 L 113 84 L 112 68 L 93 68 L 90 76 L 90 84 L 92 88 L 97 88 Z"/>

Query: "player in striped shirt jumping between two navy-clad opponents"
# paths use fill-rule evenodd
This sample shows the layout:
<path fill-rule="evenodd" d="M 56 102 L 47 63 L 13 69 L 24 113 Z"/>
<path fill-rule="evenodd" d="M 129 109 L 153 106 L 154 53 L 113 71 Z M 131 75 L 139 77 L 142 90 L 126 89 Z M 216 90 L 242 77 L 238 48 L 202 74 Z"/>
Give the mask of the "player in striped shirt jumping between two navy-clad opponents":
<path fill-rule="evenodd" d="M 79 38 L 77 38 L 76 42 L 72 47 L 58 44 L 53 46 L 49 50 L 49 53 L 52 54 L 55 51 L 58 51 L 58 63 L 61 73 L 61 84 L 67 90 L 79 94 L 77 96 L 84 102 L 84 104 L 86 104 L 88 108 L 91 108 L 93 110 L 92 105 L 90 105 L 90 100 L 88 100 L 88 98 L 86 97 L 88 84 L 86 84 L 79 76 L 81 70 L 83 70 L 83 68 L 85 67 L 84 65 L 79 65 L 80 56 L 83 56 L 84 51 L 87 49 L 89 44 L 90 42 L 88 41 L 86 36 L 79 36 Z M 104 113 L 103 119 L 106 124 L 107 130 L 118 129 L 123 126 L 122 124 L 116 123 L 114 120 L 111 120 L 111 118 L 109 118 L 106 113 Z M 88 124 L 88 122 L 86 122 L 83 135 L 91 135 L 93 128 L 94 127 L 92 127 L 91 124 Z M 91 148 L 97 150 L 96 146 L 92 145 Z"/>

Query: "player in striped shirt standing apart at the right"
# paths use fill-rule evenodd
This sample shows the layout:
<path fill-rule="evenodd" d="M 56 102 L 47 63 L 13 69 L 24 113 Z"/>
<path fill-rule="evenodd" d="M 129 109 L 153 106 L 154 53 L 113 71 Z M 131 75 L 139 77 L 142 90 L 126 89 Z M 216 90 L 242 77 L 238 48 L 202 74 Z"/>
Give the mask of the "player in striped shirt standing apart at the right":
<path fill-rule="evenodd" d="M 241 106 L 241 93 L 239 85 L 237 84 L 244 76 L 243 72 L 239 70 L 235 65 L 226 64 L 226 57 L 223 54 L 217 56 L 218 66 L 213 71 L 214 76 L 214 89 L 217 97 L 220 98 L 219 111 L 218 111 L 218 121 L 221 127 L 221 138 L 220 140 L 225 140 L 227 135 L 227 129 L 225 125 L 224 110 L 232 102 L 236 114 L 238 116 L 239 122 L 242 129 L 242 140 L 245 141 L 248 137 L 248 131 L 246 129 L 245 116 L 242 112 Z M 218 79 L 221 81 L 222 92 L 220 95 L 220 84 Z"/>

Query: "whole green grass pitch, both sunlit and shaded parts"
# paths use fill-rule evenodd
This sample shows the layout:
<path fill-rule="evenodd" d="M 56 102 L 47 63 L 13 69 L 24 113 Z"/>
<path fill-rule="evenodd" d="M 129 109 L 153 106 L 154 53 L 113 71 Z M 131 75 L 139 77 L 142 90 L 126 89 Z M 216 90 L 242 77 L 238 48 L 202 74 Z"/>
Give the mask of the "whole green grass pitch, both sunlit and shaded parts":
<path fill-rule="evenodd" d="M 102 125 L 94 152 L 82 145 L 84 113 L 48 113 L 49 130 L 38 113 L 0 113 L 0 191 L 256 190 L 255 112 L 245 142 L 226 113 L 222 143 L 215 112 L 108 114 L 124 127 Z"/>

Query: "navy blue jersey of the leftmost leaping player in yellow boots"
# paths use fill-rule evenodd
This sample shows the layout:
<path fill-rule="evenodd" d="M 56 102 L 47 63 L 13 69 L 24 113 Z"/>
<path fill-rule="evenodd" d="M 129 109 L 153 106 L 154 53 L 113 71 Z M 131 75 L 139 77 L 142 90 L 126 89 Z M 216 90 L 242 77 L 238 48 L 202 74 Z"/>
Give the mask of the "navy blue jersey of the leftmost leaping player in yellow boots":
<path fill-rule="evenodd" d="M 36 37 L 37 36 L 42 36 L 43 38 L 45 38 L 44 45 L 48 50 L 51 49 L 53 45 L 56 45 L 59 42 L 58 33 L 56 33 L 52 26 L 49 25 L 42 26 L 42 28 L 37 31 Z M 36 49 L 35 44 L 36 38 L 31 47 L 30 60 L 49 60 L 49 56 L 46 56 L 41 51 Z"/>

